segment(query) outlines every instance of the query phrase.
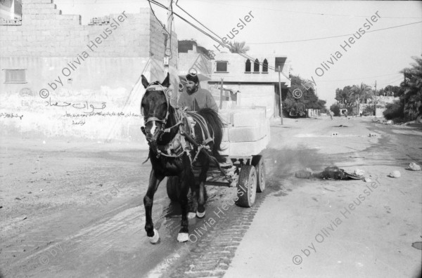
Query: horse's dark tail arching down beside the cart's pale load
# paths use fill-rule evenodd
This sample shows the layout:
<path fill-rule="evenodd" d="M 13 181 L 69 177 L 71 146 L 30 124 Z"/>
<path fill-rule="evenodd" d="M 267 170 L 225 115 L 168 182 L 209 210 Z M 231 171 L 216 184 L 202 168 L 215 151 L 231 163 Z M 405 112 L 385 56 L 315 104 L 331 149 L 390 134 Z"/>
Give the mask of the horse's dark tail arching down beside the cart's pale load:
<path fill-rule="evenodd" d="M 223 120 L 219 117 L 218 112 L 212 110 L 210 108 L 203 108 L 198 110 L 197 112 L 202 117 L 204 117 L 205 121 L 209 127 L 214 131 L 214 145 L 212 146 L 212 156 L 217 159 L 217 161 L 222 162 L 225 161 L 224 157 L 222 157 L 219 152 L 222 151 L 222 138 L 223 138 Z"/>

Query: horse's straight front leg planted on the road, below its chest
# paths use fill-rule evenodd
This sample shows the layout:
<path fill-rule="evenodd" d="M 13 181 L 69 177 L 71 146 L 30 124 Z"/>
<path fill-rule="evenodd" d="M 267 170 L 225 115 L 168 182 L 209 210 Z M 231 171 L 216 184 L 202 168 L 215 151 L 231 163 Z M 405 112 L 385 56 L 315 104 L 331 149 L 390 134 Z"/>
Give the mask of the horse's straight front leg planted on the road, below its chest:
<path fill-rule="evenodd" d="M 191 183 L 195 183 L 191 168 L 186 168 L 179 176 L 180 186 L 180 199 L 179 203 L 181 206 L 181 223 L 179 234 L 177 235 L 177 241 L 185 242 L 189 240 L 188 230 L 188 191 Z"/>

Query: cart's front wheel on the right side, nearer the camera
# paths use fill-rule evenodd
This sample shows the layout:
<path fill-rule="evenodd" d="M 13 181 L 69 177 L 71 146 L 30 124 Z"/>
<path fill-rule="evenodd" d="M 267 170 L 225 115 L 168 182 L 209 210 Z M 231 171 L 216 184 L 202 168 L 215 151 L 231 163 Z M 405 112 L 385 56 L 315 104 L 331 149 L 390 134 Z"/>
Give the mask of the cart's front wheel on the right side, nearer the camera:
<path fill-rule="evenodd" d="M 245 208 L 253 206 L 257 195 L 257 171 L 254 166 L 242 166 L 237 189 L 238 200 L 236 204 Z"/>

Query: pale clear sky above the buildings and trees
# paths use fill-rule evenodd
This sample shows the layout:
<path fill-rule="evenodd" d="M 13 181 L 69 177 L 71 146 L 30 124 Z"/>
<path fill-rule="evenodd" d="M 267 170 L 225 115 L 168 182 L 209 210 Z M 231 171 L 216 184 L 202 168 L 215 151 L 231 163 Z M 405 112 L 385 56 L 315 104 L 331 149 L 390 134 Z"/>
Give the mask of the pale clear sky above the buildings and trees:
<path fill-rule="evenodd" d="M 136 13 L 148 6 L 146 0 L 54 3 L 63 14 L 82 15 L 82 24 L 96 16 Z M 398 86 L 403 79 L 400 70 L 410 66 L 411 56 L 422 54 L 422 1 L 179 0 L 178 5 L 219 37 L 239 29 L 239 18 L 250 13 L 253 18 L 233 40 L 245 41 L 252 57 L 286 55 L 291 74 L 313 80 L 316 93 L 328 105 L 335 102 L 335 89 L 347 85 L 376 83 L 377 91 Z M 155 5 L 153 9 L 162 22 L 167 22 L 166 11 Z M 179 8 L 174 7 L 174 11 L 194 21 Z M 195 39 L 200 46 L 215 49 L 215 41 L 177 17 L 174 30 L 179 40 Z M 348 40 L 353 34 L 359 39 L 351 44 Z M 347 36 L 338 37 L 341 35 Z"/>

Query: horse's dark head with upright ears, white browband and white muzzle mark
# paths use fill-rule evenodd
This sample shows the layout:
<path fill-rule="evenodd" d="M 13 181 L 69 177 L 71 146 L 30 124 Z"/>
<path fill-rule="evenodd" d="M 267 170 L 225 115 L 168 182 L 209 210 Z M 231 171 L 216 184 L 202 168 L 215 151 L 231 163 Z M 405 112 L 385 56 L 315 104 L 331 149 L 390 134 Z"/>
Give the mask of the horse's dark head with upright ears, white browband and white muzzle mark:
<path fill-rule="evenodd" d="M 170 86 L 170 75 L 167 73 L 162 83 L 155 81 L 151 84 L 142 75 L 142 85 L 146 90 L 141 101 L 141 114 L 145 121 L 146 140 L 151 142 L 157 140 L 158 135 L 164 131 L 169 117 L 170 102 L 167 90 Z"/>

